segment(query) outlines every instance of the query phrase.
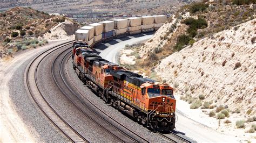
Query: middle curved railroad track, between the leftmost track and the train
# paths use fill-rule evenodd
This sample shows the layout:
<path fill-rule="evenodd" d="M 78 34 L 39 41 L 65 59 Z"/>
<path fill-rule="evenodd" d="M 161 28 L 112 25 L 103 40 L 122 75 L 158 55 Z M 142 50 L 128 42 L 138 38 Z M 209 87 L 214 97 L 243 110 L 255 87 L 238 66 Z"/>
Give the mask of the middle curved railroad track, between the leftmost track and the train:
<path fill-rule="evenodd" d="M 69 49 L 66 49 L 65 51 L 68 51 Z M 64 53 L 65 51 L 63 51 L 62 53 Z M 68 54 L 70 54 L 70 52 L 68 51 L 62 58 L 62 60 L 59 62 L 59 75 L 55 75 L 56 73 L 53 73 L 53 67 L 55 66 L 55 63 L 57 61 L 57 59 L 59 58 L 60 55 L 62 55 L 62 53 L 60 53 L 57 58 L 55 59 L 55 61 L 52 63 L 52 75 L 53 78 L 55 80 L 55 83 L 57 84 L 58 88 L 63 92 L 64 95 L 66 95 L 67 90 L 69 90 L 69 92 L 76 97 L 76 99 L 80 102 L 79 104 L 83 105 L 83 109 L 81 109 L 77 104 L 78 103 L 74 103 L 68 95 L 66 95 L 67 98 L 69 98 L 70 102 L 77 106 L 77 108 L 83 112 L 83 114 L 90 118 L 92 121 L 94 121 L 98 126 L 102 127 L 105 131 L 107 131 L 108 133 L 110 133 L 114 138 L 118 139 L 116 141 L 121 141 L 121 142 L 149 142 L 146 139 L 144 139 L 143 137 L 140 137 L 139 135 L 137 135 L 136 133 L 132 132 L 131 130 L 129 130 L 129 128 L 123 126 L 122 124 L 118 123 L 119 125 L 122 125 L 127 131 L 129 131 L 131 134 L 133 134 L 133 137 L 131 137 L 131 135 L 125 133 L 124 131 L 120 130 L 118 127 L 112 125 L 112 123 L 110 123 L 110 121 L 106 120 L 104 117 L 102 117 L 101 115 L 99 115 L 98 112 L 96 112 L 95 110 L 91 109 L 88 105 L 86 105 L 80 98 L 78 98 L 78 95 L 69 87 L 68 83 L 65 81 L 63 73 L 62 73 L 62 65 L 63 65 L 63 61 L 66 58 L 66 56 Z M 69 56 L 70 58 L 70 56 Z M 58 77 L 62 78 L 62 82 L 65 84 L 65 89 L 63 89 L 64 87 L 59 85 L 60 82 L 57 81 L 57 79 L 59 79 Z M 69 76 L 69 75 L 68 75 Z M 79 91 L 79 90 L 78 90 Z M 80 92 L 80 94 L 82 94 Z M 89 101 L 89 100 L 87 100 Z M 90 102 L 90 101 L 89 101 Z M 91 103 L 91 102 L 90 102 Z M 92 104 L 92 103 L 91 103 Z M 93 105 L 93 104 L 92 104 Z M 93 105 L 95 106 L 95 105 Z M 95 106 L 96 107 L 96 106 Z M 97 108 L 97 107 L 96 107 Z M 99 109 L 99 108 L 97 108 Z M 86 111 L 84 111 L 86 110 Z M 99 109 L 100 110 L 100 109 Z M 102 111 L 102 110 L 100 110 Z M 103 111 L 102 111 L 103 112 Z M 106 115 L 106 113 L 104 113 Z M 108 115 L 106 115 L 107 117 L 109 117 Z M 111 118 L 113 119 L 113 118 Z M 113 120 L 117 123 L 116 120 Z M 126 131 L 126 132 L 127 132 Z M 134 138 L 136 137 L 136 138 Z"/>

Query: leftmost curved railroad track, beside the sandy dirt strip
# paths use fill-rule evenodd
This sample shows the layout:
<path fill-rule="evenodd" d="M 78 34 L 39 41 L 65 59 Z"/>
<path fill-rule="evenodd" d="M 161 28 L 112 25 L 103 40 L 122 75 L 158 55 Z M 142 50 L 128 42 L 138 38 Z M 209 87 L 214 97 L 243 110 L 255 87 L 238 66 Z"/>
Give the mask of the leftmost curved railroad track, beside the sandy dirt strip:
<path fill-rule="evenodd" d="M 65 42 L 62 45 L 52 47 L 43 53 L 39 54 L 35 59 L 33 59 L 29 66 L 26 68 L 26 85 L 30 92 L 33 101 L 37 104 L 38 108 L 43 112 L 46 118 L 62 133 L 66 141 L 71 142 L 89 142 L 81 134 L 79 134 L 74 128 L 72 128 L 67 121 L 65 121 L 57 111 L 46 101 L 44 95 L 38 87 L 37 83 L 37 69 L 41 61 L 49 55 L 51 52 L 56 51 L 64 46 L 72 44 L 73 41 Z"/>

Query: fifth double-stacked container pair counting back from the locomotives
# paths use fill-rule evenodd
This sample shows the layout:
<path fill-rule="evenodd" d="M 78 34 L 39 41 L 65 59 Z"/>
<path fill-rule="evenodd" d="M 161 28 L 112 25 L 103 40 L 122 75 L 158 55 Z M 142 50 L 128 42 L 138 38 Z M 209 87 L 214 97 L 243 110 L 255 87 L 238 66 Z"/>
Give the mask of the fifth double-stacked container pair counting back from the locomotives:
<path fill-rule="evenodd" d="M 130 35 L 139 34 L 142 32 L 142 18 L 140 17 L 130 17 L 126 18 L 127 21 L 127 30 Z"/>

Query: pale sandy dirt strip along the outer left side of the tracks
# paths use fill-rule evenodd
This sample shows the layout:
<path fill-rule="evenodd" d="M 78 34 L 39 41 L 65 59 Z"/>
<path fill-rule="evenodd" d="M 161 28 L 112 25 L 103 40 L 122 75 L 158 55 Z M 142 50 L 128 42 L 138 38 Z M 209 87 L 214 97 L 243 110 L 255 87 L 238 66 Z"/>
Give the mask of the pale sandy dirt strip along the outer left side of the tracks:
<path fill-rule="evenodd" d="M 60 44 L 60 42 L 54 42 L 52 44 L 57 45 Z M 18 116 L 17 111 L 15 110 L 15 103 L 11 100 L 9 95 L 9 89 L 12 87 L 8 87 L 8 82 L 24 61 L 35 56 L 45 48 L 49 48 L 52 44 L 24 52 L 15 56 L 15 58 L 5 61 L 0 59 L 0 142 L 35 141 L 35 136 L 37 136 L 36 132 L 31 131 L 31 128 L 28 128 L 24 124 L 21 117 Z"/>

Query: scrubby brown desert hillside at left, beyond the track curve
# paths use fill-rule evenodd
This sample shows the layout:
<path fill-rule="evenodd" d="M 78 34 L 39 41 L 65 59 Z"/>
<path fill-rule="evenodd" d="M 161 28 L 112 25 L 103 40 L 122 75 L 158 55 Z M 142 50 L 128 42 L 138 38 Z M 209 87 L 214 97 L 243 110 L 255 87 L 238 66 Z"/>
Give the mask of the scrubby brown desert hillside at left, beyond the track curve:
<path fill-rule="evenodd" d="M 49 15 L 31 8 L 16 7 L 0 13 L 0 54 L 36 48 L 48 40 L 72 37 L 79 24 L 64 16 Z"/>

